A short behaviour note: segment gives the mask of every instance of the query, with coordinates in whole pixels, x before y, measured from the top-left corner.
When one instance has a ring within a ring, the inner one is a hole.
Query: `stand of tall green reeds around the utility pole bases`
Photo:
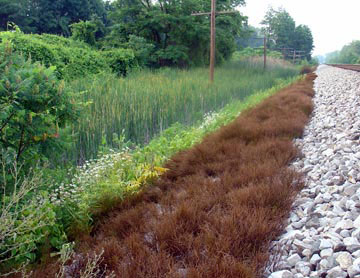
[[[217,68],[214,84],[209,84],[206,68],[143,70],[126,78],[104,74],[74,81],[72,89],[83,92],[83,101],[92,104],[73,125],[78,139],[71,159],[95,158],[103,145],[116,148],[120,136],[147,143],[176,122],[193,124],[205,113],[296,74],[288,64],[270,61],[264,71],[261,59],[249,59]]]

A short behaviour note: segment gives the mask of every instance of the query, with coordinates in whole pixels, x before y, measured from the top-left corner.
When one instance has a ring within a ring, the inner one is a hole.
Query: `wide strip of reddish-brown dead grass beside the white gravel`
[[[156,185],[113,210],[79,252],[104,250],[99,267],[116,277],[261,277],[269,243],[303,186],[288,165],[313,108],[314,79],[307,75],[175,155]],[[54,277],[55,269],[34,277]],[[73,267],[71,277],[78,273]]]

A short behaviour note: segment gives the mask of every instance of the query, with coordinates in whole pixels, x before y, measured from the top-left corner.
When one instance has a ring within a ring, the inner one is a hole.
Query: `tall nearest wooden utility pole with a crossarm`
[[[211,12],[210,13],[203,13],[203,12],[196,12],[192,13],[193,16],[199,15],[210,15],[210,82],[214,82],[214,71],[215,71],[215,37],[216,37],[216,24],[215,24],[215,17],[218,14],[229,14],[229,13],[236,13],[237,11],[216,11],[216,0],[211,0]]]

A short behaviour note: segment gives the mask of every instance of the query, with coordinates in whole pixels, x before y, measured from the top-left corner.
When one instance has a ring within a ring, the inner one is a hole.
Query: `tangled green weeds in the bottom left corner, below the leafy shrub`
[[[55,205],[48,193],[40,190],[43,184],[40,170],[32,170],[23,177],[19,173],[21,166],[16,162],[9,166],[7,156],[1,153],[0,167],[3,174],[12,174],[13,190],[7,192],[8,184],[0,183],[0,274],[34,262],[42,247],[59,250],[67,241]]]

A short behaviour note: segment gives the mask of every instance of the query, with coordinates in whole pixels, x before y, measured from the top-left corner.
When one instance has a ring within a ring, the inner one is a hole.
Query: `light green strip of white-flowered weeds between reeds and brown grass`
[[[72,199],[76,206],[73,210],[74,221],[87,221],[81,225],[86,227],[90,219],[151,184],[153,179],[166,171],[161,166],[173,154],[198,143],[206,134],[234,120],[241,111],[254,106],[296,78],[277,80],[273,88],[252,92],[243,100],[233,101],[219,112],[205,115],[204,120],[192,127],[176,123],[143,148],[129,149],[129,143],[122,137],[119,151],[110,152],[79,167],[72,183],[62,187],[58,200],[66,202]],[[76,225],[79,226],[79,223]]]

